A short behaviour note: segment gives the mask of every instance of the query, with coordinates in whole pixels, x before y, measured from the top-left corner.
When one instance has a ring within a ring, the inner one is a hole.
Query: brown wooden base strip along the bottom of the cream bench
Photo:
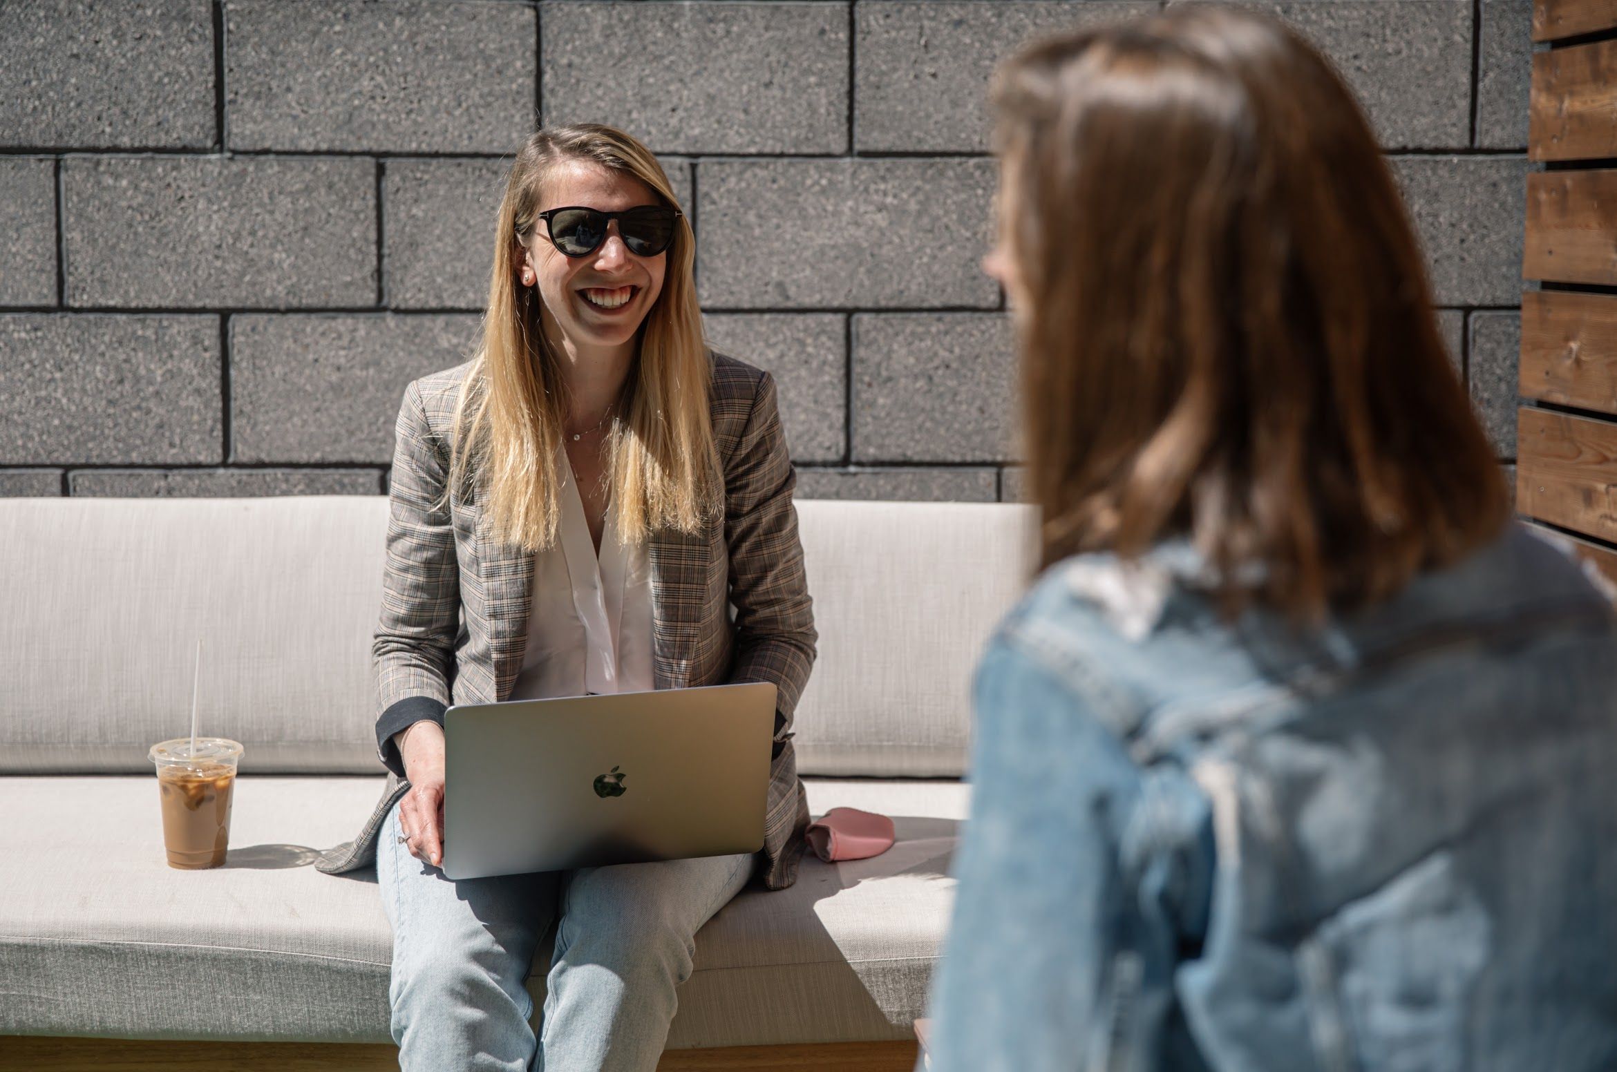
[[[914,1041],[669,1049],[658,1072],[910,1072]],[[0,1035],[0,1072],[398,1072],[391,1045]]]

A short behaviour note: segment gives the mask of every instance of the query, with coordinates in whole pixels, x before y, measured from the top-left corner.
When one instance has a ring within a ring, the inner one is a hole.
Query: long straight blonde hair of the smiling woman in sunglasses
[[[629,175],[679,207],[657,157],[632,136],[597,123],[537,129],[516,154],[495,226],[495,259],[482,343],[461,382],[451,432],[450,488],[480,496],[490,535],[537,551],[555,542],[561,498],[556,443],[569,407],[559,356],[540,323],[537,288],[521,286],[524,246],[542,210],[543,181],[564,160]],[[639,543],[653,529],[694,534],[720,504],[718,456],[708,412],[711,365],[702,336],[692,260],[695,238],[676,220],[663,289],[639,331],[624,404],[608,432],[616,538]],[[475,488],[467,487],[467,467]]]

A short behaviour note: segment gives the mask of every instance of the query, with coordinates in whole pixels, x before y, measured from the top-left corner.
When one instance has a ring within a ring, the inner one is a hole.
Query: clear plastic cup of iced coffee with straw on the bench
[[[197,737],[192,752],[191,737],[176,737],[154,744],[147,758],[157,763],[168,867],[222,865],[241,745],[225,737]]]

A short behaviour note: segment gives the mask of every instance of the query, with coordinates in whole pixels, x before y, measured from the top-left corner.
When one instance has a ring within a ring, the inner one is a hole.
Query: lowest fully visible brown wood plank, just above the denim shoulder
[[[1517,513],[1617,540],[1617,424],[1517,409]]]

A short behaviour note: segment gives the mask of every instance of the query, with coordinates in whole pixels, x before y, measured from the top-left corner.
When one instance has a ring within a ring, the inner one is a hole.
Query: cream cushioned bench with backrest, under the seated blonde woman
[[[897,844],[804,859],[697,936],[669,1049],[899,1040],[967,815],[977,652],[1032,563],[1015,504],[799,501],[820,653],[797,710],[818,817]],[[325,875],[380,794],[370,640],[385,496],[0,500],[0,1035],[388,1043],[375,872]],[[246,745],[222,868],[167,867],[146,750]],[[548,943],[529,978],[535,1020]],[[537,1027],[537,1023],[535,1023]]]

